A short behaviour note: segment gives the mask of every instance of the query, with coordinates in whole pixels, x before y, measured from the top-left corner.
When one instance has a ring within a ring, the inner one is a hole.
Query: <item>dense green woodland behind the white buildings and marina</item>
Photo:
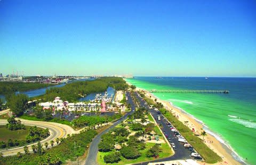
[[[42,98],[44,101],[52,101],[59,96],[62,100],[69,102],[77,102],[78,98],[85,94],[106,91],[108,87],[116,90],[124,90],[128,87],[122,78],[118,77],[102,77],[93,81],[77,81],[67,84],[63,87],[53,87],[46,90],[46,94],[36,98]]]

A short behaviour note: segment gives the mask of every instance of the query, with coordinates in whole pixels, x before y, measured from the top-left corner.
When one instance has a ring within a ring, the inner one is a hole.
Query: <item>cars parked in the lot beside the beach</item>
[[[161,112],[160,112],[161,113]],[[158,113],[159,114],[159,113]],[[163,116],[162,116],[163,117]],[[171,131],[173,131],[173,134],[176,138],[178,138],[178,142],[182,143],[183,144],[183,147],[185,147],[186,149],[188,149],[190,152],[191,152],[191,155],[192,157],[194,157],[195,159],[199,159],[199,160],[202,160],[202,156],[200,154],[198,154],[193,146],[191,146],[188,141],[179,133],[179,131],[174,128],[172,126],[172,124],[165,118],[163,117],[163,120],[166,122],[166,125],[171,129]],[[172,139],[171,137],[167,137],[167,134],[165,133],[165,131],[163,131],[165,137],[168,139],[168,141],[170,142],[170,144],[172,145],[173,147],[173,150],[175,151],[175,144],[172,143]]]

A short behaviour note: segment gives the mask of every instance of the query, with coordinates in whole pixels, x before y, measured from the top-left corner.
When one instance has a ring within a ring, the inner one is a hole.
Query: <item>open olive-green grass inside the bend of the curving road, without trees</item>
[[[9,130],[5,126],[0,126],[0,141],[8,142],[9,139],[17,139],[18,141],[26,141],[31,126],[25,126],[26,129]],[[38,128],[43,129],[43,128]]]

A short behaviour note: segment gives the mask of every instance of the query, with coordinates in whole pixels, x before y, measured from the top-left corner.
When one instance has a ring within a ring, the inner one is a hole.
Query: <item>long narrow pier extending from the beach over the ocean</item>
[[[229,90],[149,90],[150,93],[224,93],[228,94]]]

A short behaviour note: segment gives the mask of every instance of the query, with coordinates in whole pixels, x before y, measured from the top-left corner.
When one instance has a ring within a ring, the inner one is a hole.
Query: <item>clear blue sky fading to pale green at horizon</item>
[[[0,0],[13,71],[256,77],[256,2]]]

